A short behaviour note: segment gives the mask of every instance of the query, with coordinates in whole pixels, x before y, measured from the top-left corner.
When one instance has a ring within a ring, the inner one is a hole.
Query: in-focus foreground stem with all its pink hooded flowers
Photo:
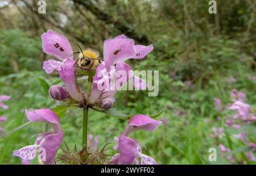
[[[139,90],[146,88],[146,82],[134,75],[133,70],[124,61],[130,58],[141,59],[150,53],[153,49],[152,45],[143,46],[135,45],[133,39],[127,38],[125,35],[114,37],[104,41],[103,58],[104,61],[97,66],[96,72],[88,70],[83,72],[88,76],[88,87],[86,90],[77,83],[76,61],[73,59],[73,49],[66,37],[55,33],[52,30],[42,35],[43,51],[48,55],[56,57],[57,60],[47,60],[43,63],[43,69],[47,74],[56,70],[59,73],[63,85],[52,85],[49,88],[49,95],[58,101],[66,103],[67,107],[80,107],[84,110],[83,116],[83,137],[82,150],[71,152],[66,145],[64,154],[58,157],[57,161],[64,161],[66,164],[109,164],[110,158],[105,153],[105,146],[102,150],[98,150],[99,137],[93,140],[92,135],[87,134],[87,118],[88,110],[97,110],[101,112],[109,111],[114,105],[114,95],[118,89],[109,90],[106,87],[103,90],[98,89],[98,85],[105,81],[109,81],[115,77],[115,72],[121,70],[127,74],[125,81],[121,83],[125,85],[129,79],[133,78],[133,85]],[[93,50],[90,50],[93,54]],[[89,56],[86,56],[89,57]],[[101,76],[99,73],[102,73]],[[116,78],[118,82],[121,78]],[[82,85],[85,85],[82,83]],[[92,85],[92,89],[90,87]],[[3,106],[0,102],[0,105]],[[50,109],[26,110],[28,121],[32,123],[46,123],[52,128],[52,131],[46,131],[37,135],[34,144],[24,146],[21,149],[14,150],[13,155],[22,159],[22,164],[30,164],[30,160],[39,155],[39,162],[42,164],[56,164],[55,155],[60,145],[63,143],[64,132],[57,112]],[[129,137],[131,132],[138,129],[146,131],[154,131],[160,121],[151,119],[146,115],[135,115],[129,118],[129,123],[125,131],[119,136],[118,145],[115,149],[119,150],[118,154],[110,161],[110,164],[136,164],[141,160],[141,164],[157,164],[150,156],[142,153],[141,144]]]

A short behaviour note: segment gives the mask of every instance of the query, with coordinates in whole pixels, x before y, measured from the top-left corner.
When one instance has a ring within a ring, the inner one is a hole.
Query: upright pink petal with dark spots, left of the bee
[[[68,57],[73,58],[73,50],[66,37],[49,30],[46,33],[43,33],[41,38],[43,42],[43,51],[48,55],[55,56],[61,61]]]

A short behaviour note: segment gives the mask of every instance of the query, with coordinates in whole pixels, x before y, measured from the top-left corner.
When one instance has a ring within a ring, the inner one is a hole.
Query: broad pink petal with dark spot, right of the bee
[[[125,35],[104,41],[104,61],[107,70],[110,69],[111,65],[134,56],[134,40],[126,38]]]

